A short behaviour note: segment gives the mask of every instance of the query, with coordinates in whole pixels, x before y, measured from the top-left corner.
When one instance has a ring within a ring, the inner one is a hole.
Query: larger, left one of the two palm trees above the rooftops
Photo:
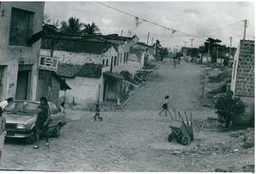
[[[62,22],[61,32],[65,34],[81,34],[83,24],[76,17],[68,19],[67,23]]]

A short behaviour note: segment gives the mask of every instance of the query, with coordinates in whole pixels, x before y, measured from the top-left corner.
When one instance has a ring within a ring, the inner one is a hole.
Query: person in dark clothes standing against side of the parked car
[[[36,141],[35,141],[34,148],[39,148],[39,140],[40,140],[41,133],[46,135],[46,146],[49,146],[48,126],[49,126],[48,102],[47,102],[47,98],[45,96],[42,96],[40,98],[40,105],[38,107],[37,119],[35,123]]]

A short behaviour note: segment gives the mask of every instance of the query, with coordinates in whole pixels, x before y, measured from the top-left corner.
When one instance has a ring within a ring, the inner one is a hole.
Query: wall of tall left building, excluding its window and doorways
[[[5,66],[5,83],[2,84],[2,96],[16,96],[18,67],[21,65],[30,65],[30,79],[28,99],[34,100],[36,97],[38,58],[40,41],[33,43],[32,46],[9,45],[9,32],[11,21],[11,9],[24,9],[34,13],[32,24],[32,33],[42,30],[45,3],[43,2],[1,2],[0,11],[0,66]]]

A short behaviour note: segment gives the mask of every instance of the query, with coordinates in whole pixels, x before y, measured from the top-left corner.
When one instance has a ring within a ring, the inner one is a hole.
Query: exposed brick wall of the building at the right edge
[[[254,41],[240,42],[235,96],[254,97]]]

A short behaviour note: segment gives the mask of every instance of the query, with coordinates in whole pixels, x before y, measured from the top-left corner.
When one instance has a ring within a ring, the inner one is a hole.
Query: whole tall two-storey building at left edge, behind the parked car
[[[0,100],[36,99],[40,42],[29,43],[42,30],[44,2],[0,3]]]

